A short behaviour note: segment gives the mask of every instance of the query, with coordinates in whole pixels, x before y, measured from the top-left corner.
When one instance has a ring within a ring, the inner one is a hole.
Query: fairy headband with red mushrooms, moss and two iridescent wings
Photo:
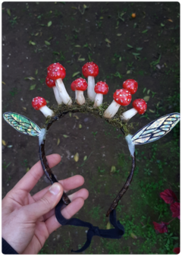
[[[124,106],[130,104],[132,94],[137,92],[137,81],[134,81],[133,79],[124,81],[123,88],[115,91],[113,101],[109,105],[108,103],[103,103],[103,95],[108,93],[108,85],[102,81],[95,84],[95,77],[99,74],[98,66],[93,62],[88,62],[83,65],[82,71],[83,75],[88,77],[88,84],[83,78],[78,78],[73,81],[71,84],[71,90],[75,91],[75,100],[73,102],[71,97],[67,94],[67,90],[62,81],[66,74],[65,68],[59,63],[49,66],[48,76],[45,81],[49,87],[53,88],[58,106],[53,106],[49,109],[49,107],[46,106],[46,101],[39,96],[34,98],[32,102],[33,108],[40,110],[43,115],[45,115],[46,121],[43,128],[39,128],[38,125],[30,119],[27,119],[27,117],[24,117],[24,115],[19,115],[14,112],[5,112],[3,116],[5,121],[17,131],[33,137],[39,137],[39,158],[41,160],[42,169],[52,184],[58,182],[58,180],[55,178],[55,175],[53,175],[45,157],[45,137],[53,123],[63,118],[64,115],[69,112],[82,112],[90,113],[96,117],[105,119],[109,124],[120,128],[126,138],[130,150],[132,168],[124,187],[121,188],[121,191],[119,191],[117,197],[111,203],[111,206],[106,213],[106,216],[109,216],[109,214],[117,207],[118,202],[127,191],[133,178],[133,172],[136,166],[134,153],[135,145],[156,141],[165,136],[165,134],[168,134],[168,132],[177,125],[177,122],[181,120],[181,114],[171,113],[162,116],[141,128],[136,134],[131,135],[130,130],[133,126],[128,121],[137,113],[143,115],[144,112],[146,112],[147,107],[146,102],[143,99],[137,99],[133,101],[132,109],[127,111],[124,109]],[[85,99],[83,91],[86,89],[87,98]],[[63,201],[64,204],[71,203],[65,193],[63,194],[61,201]]]

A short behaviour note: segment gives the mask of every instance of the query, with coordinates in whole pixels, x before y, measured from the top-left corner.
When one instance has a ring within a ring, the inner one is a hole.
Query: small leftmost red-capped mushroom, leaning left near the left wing
[[[47,105],[46,100],[39,96],[34,98],[32,101],[33,108],[36,110],[40,110],[42,114],[45,115],[45,117],[53,116],[54,112],[52,111],[52,109],[49,109],[49,107],[46,105]]]

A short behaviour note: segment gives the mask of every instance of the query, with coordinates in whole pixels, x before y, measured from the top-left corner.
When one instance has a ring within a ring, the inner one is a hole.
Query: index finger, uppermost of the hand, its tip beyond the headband
[[[50,168],[52,168],[61,161],[61,156],[58,154],[52,154],[47,156],[47,160]],[[17,185],[15,185],[13,189],[22,189],[30,193],[43,174],[42,165],[39,161],[30,169],[29,172],[26,173],[26,175],[24,175],[22,179],[20,179],[20,182],[17,182]]]

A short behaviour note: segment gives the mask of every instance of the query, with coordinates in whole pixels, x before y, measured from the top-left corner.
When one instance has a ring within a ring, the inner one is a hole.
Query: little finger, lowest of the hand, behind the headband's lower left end
[[[75,213],[77,213],[81,209],[81,207],[83,207],[83,204],[83,198],[77,198],[73,202],[71,202],[71,204],[68,204],[67,207],[61,210],[61,213],[64,218],[70,219],[72,216],[74,216]],[[55,229],[58,229],[61,226],[61,224],[58,223],[55,214],[45,221],[45,225],[47,226],[49,234],[51,234],[53,231],[55,231]]]

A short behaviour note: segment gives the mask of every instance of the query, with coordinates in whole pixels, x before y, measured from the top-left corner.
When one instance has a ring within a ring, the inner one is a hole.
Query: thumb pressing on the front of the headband
[[[45,213],[49,213],[58,204],[62,194],[63,187],[60,183],[55,182],[39,201],[27,205],[27,216],[30,216],[31,220],[37,220]]]

